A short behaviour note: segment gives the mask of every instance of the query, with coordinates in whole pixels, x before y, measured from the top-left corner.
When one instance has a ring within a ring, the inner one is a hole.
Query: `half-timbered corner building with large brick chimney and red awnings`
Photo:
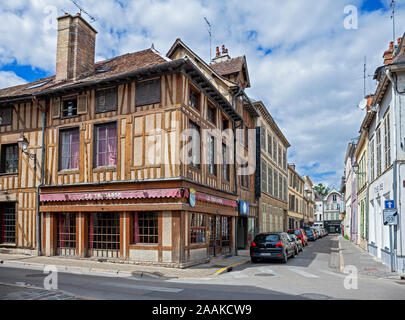
[[[254,171],[232,162],[255,127],[244,87],[174,56],[179,40],[168,57],[94,63],[96,33],[58,18],[56,75],[0,90],[0,246],[172,267],[246,247]]]

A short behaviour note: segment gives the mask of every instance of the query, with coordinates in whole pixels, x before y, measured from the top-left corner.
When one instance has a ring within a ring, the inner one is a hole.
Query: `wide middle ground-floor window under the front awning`
[[[120,249],[120,214],[91,213],[89,222],[89,249],[99,256],[97,250]],[[108,255],[107,255],[108,256]]]

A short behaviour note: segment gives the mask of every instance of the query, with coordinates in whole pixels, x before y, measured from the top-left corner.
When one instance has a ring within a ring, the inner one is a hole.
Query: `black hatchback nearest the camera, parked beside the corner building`
[[[277,259],[287,263],[289,257],[295,257],[295,244],[285,232],[260,233],[250,246],[252,263],[259,259]]]

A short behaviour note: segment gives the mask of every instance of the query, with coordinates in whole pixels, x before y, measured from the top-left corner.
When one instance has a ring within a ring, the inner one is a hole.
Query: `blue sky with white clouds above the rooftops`
[[[207,17],[213,52],[225,44],[231,57],[246,55],[248,94],[264,101],[285,133],[289,162],[315,183],[340,187],[347,143],[359,135],[364,117],[356,107],[364,57],[366,92],[372,93],[372,74],[393,38],[391,0],[77,2],[96,18],[98,61],[152,43],[166,54],[176,38],[209,60]],[[405,32],[405,0],[396,2],[398,38]],[[56,17],[77,11],[70,0],[2,0],[0,88],[54,74]]]

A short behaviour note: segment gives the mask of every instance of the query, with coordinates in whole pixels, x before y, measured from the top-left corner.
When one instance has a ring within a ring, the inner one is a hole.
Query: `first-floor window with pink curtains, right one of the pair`
[[[117,124],[109,123],[96,127],[96,166],[117,165]]]

